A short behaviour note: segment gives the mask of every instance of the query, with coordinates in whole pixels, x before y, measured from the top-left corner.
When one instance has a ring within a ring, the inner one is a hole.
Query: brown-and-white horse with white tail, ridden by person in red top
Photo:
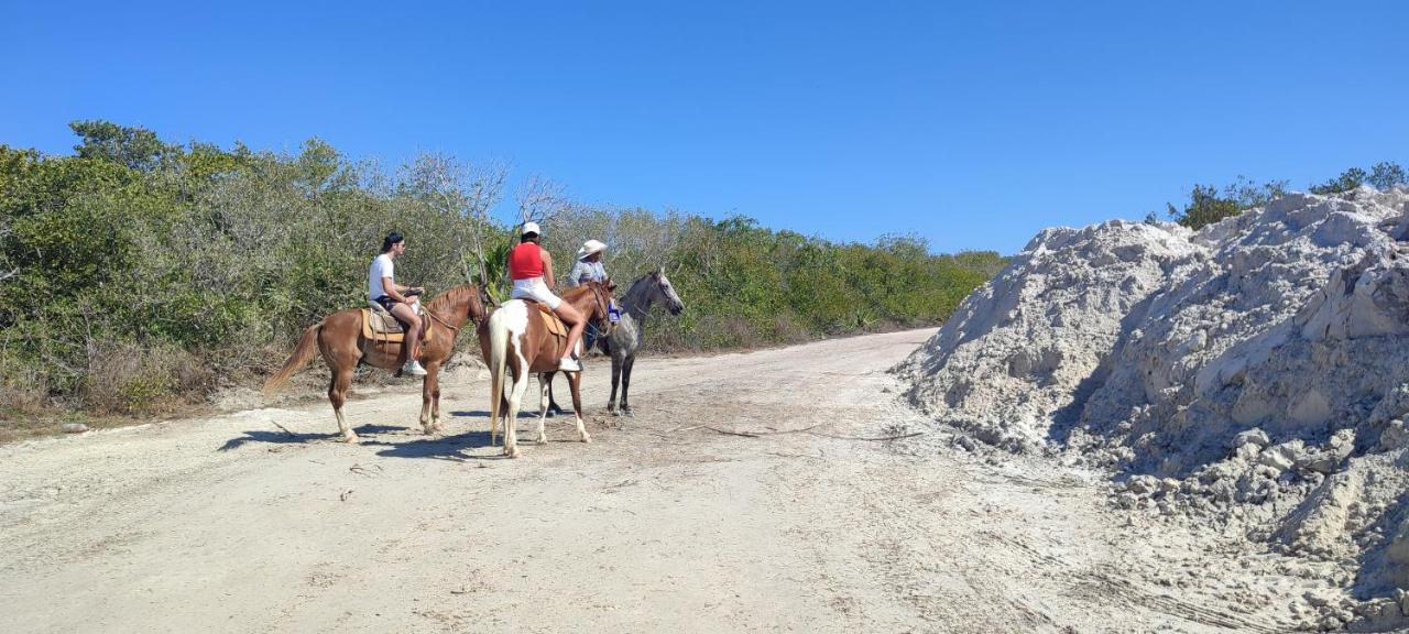
[[[586,320],[606,321],[607,306],[612,303],[616,285],[610,280],[588,282],[562,293],[562,300],[571,303]],[[493,373],[489,392],[489,442],[495,442],[495,433],[499,428],[499,416],[504,418],[504,455],[519,458],[519,437],[514,433],[514,418],[519,416],[519,406],[523,402],[524,390],[528,389],[528,375],[540,373],[541,404],[547,404],[547,372],[558,371],[558,359],[562,358],[566,345],[565,337],[554,335],[538,317],[538,309],[528,306],[524,300],[509,300],[489,314],[489,320],[476,328],[479,347]],[[581,352],[581,344],[579,352]],[[504,373],[513,375],[513,389],[509,400],[504,400]],[[582,424],[582,372],[565,372],[568,385],[572,387],[572,410],[578,420],[578,438],[582,442],[592,442],[588,428]],[[548,442],[544,433],[544,414],[547,407],[538,413],[538,442]]]

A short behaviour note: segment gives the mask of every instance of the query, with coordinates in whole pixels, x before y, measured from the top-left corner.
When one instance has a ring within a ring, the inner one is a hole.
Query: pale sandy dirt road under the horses
[[[0,447],[0,631],[1284,627],[1100,473],[952,448],[885,373],[929,334],[641,359],[633,418],[589,359],[595,442],[520,418],[517,461],[482,379],[445,438],[397,393],[348,404],[362,445],[317,403]]]

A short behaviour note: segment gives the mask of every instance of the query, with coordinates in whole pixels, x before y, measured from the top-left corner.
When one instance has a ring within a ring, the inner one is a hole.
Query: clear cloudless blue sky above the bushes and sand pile
[[[595,204],[1016,252],[1193,183],[1409,163],[1409,3],[25,3],[0,144],[106,118]],[[293,6],[297,4],[297,6]],[[395,4],[395,6],[393,6]]]

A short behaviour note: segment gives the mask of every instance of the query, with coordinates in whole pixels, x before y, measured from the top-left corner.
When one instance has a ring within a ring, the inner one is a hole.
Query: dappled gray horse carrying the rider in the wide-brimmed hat
[[[597,338],[597,348],[603,354],[612,355],[612,399],[607,402],[607,411],[612,416],[631,416],[631,406],[627,403],[627,390],[631,387],[631,366],[635,365],[635,352],[645,341],[645,317],[651,313],[651,306],[657,302],[665,304],[671,314],[681,314],[685,303],[675,294],[665,269],[645,273],[631,282],[626,294],[617,299],[617,304],[624,310],[616,328],[610,328],[606,337]],[[552,383],[552,373],[540,376],[540,380]],[[621,409],[617,410],[617,385],[621,386]],[[552,390],[548,392],[548,413],[562,411],[552,400]]]

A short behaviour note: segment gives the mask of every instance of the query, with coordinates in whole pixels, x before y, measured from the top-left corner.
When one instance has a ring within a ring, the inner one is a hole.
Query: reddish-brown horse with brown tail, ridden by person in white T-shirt
[[[426,320],[428,332],[421,344],[418,361],[426,366],[426,382],[421,385],[421,428],[427,434],[445,431],[440,423],[440,369],[455,351],[455,335],[459,334],[459,327],[465,324],[465,320],[472,320],[476,324],[485,321],[485,303],[479,293],[479,287],[475,285],[461,285],[426,304],[426,313],[430,317]],[[313,358],[314,344],[323,352],[323,361],[328,363],[328,369],[333,371],[333,379],[328,382],[328,402],[333,403],[333,413],[338,417],[338,430],[342,433],[342,440],[356,442],[356,434],[342,418],[342,403],[347,403],[352,372],[358,363],[395,371],[399,366],[397,358],[402,354],[402,344],[362,337],[361,309],[340,310],[303,331],[303,338],[299,340],[293,355],[283,362],[283,368],[276,375],[265,382],[265,394],[272,394]]]

